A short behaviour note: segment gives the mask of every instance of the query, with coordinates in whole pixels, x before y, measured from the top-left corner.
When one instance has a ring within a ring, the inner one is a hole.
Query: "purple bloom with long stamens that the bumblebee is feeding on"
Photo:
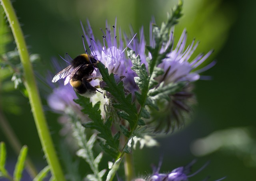
[[[109,73],[114,73],[117,82],[120,80],[124,82],[126,91],[132,93],[138,91],[138,86],[134,81],[136,73],[132,71],[132,62],[128,59],[125,51],[126,46],[129,45],[133,38],[130,38],[130,42],[123,42],[121,29],[119,28],[118,35],[116,33],[116,22],[115,26],[110,27],[106,21],[106,31],[102,30],[102,33],[103,43],[94,38],[90,23],[89,21],[87,22],[84,37],[90,48],[91,55],[101,61],[108,68]],[[97,75],[99,75],[99,72],[97,72]]]

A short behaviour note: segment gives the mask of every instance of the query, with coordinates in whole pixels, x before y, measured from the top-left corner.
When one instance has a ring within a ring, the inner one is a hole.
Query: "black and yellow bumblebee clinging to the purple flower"
[[[93,80],[92,72],[94,67],[97,67],[96,63],[97,60],[91,55],[85,53],[78,55],[68,67],[53,77],[52,82],[56,83],[58,80],[66,77],[64,85],[67,85],[69,82],[78,94],[90,97],[98,91],[90,85],[90,81]]]

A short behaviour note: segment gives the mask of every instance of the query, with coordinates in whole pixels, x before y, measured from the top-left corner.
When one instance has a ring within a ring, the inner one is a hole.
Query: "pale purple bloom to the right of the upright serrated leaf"
[[[173,45],[173,33],[173,31],[170,32],[170,39],[166,45],[162,46],[161,52],[165,51],[171,43]],[[186,47],[186,39],[187,33],[186,30],[184,30],[176,48],[168,53],[167,58],[158,66],[164,69],[165,72],[163,76],[159,77],[159,79],[164,81],[166,84],[177,81],[197,81],[200,79],[200,75],[198,74],[200,71],[193,70],[201,65],[212,54],[211,50],[206,53],[206,55],[200,54],[195,59],[190,60],[191,55],[198,46],[198,42],[194,44],[195,41],[193,40],[192,43]],[[210,63],[208,67],[205,68],[210,68],[213,65],[215,65],[215,62]]]

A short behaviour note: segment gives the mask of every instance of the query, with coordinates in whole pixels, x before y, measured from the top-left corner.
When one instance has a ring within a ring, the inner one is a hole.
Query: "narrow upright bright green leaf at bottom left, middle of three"
[[[22,171],[24,169],[27,152],[28,152],[28,147],[26,145],[22,146],[20,150],[20,154],[18,156],[17,163],[15,165],[14,173],[13,173],[13,177],[15,181],[20,181],[22,177]]]

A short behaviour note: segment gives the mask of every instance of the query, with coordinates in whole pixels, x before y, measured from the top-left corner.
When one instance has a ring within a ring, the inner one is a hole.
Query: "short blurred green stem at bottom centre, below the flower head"
[[[132,154],[124,153],[124,173],[126,181],[131,181],[135,177],[134,162]]]

